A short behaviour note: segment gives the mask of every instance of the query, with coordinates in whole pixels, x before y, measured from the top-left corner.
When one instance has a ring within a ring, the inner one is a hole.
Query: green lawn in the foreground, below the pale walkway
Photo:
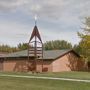
[[[90,90],[90,83],[0,76],[0,90]]]

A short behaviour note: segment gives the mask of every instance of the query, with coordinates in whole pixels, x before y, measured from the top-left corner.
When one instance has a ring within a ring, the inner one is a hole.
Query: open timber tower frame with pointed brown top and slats
[[[32,69],[31,71],[38,72],[37,71],[37,61],[40,58],[42,60],[42,72],[43,72],[43,43],[40,36],[40,33],[38,31],[36,21],[35,26],[32,31],[29,43],[28,43],[28,60],[30,60],[30,57],[33,56],[34,60],[32,61]]]

